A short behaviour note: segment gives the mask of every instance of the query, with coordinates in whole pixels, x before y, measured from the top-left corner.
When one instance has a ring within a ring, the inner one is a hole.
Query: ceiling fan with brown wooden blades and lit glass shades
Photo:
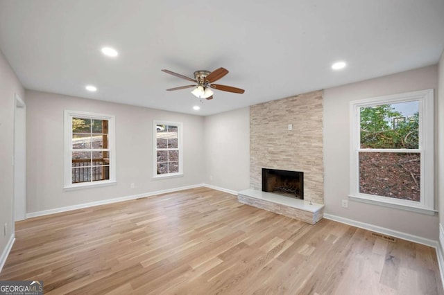
[[[224,75],[228,74],[228,70],[224,69],[224,68],[219,68],[219,69],[216,69],[212,72],[206,71],[206,70],[195,71],[194,72],[194,79],[188,78],[185,75],[180,75],[179,73],[174,73],[169,70],[163,69],[162,71],[165,73],[169,73],[170,75],[175,75],[176,77],[197,83],[197,84],[193,84],[193,85],[170,88],[170,89],[167,89],[167,91],[195,87],[195,89],[193,91],[191,91],[191,93],[193,93],[194,96],[196,96],[197,98],[205,98],[208,100],[213,99],[212,89],[217,89],[217,90],[221,90],[221,91],[228,91],[228,92],[233,92],[233,93],[244,93],[245,92],[244,89],[240,89],[240,88],[236,88],[236,87],[232,87],[232,86],[221,85],[221,84],[212,84],[213,82],[222,78]]]

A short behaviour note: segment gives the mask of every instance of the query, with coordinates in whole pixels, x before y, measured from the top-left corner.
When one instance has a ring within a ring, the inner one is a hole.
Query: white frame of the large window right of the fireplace
[[[398,152],[398,149],[363,149],[360,144],[361,107],[398,102],[419,102],[418,149],[400,149],[420,154],[420,202],[393,197],[359,193],[359,152]],[[350,195],[357,202],[434,215],[434,89],[425,89],[390,96],[365,98],[350,102]]]

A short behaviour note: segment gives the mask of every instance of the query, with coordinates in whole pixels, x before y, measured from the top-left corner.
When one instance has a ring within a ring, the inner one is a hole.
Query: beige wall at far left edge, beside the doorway
[[[0,52],[0,258],[12,233],[15,94],[25,100],[24,89]],[[7,235],[3,226],[7,226]]]

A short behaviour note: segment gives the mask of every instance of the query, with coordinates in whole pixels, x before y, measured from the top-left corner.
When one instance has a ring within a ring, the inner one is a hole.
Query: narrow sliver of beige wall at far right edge
[[[444,226],[444,51],[438,64],[438,91],[438,202],[439,223]]]

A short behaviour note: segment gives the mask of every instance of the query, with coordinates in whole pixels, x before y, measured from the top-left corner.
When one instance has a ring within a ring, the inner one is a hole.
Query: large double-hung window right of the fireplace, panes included
[[[350,199],[433,214],[433,89],[352,101],[350,127]]]

